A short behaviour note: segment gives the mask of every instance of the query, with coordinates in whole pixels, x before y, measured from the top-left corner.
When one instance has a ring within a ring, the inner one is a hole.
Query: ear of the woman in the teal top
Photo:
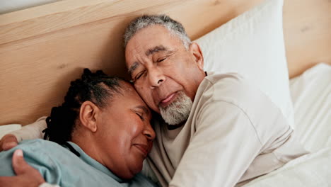
[[[85,101],[81,104],[81,110],[79,111],[79,119],[81,120],[81,125],[91,132],[96,132],[98,130],[97,125],[97,115],[100,112],[98,106],[96,106],[91,101]]]

